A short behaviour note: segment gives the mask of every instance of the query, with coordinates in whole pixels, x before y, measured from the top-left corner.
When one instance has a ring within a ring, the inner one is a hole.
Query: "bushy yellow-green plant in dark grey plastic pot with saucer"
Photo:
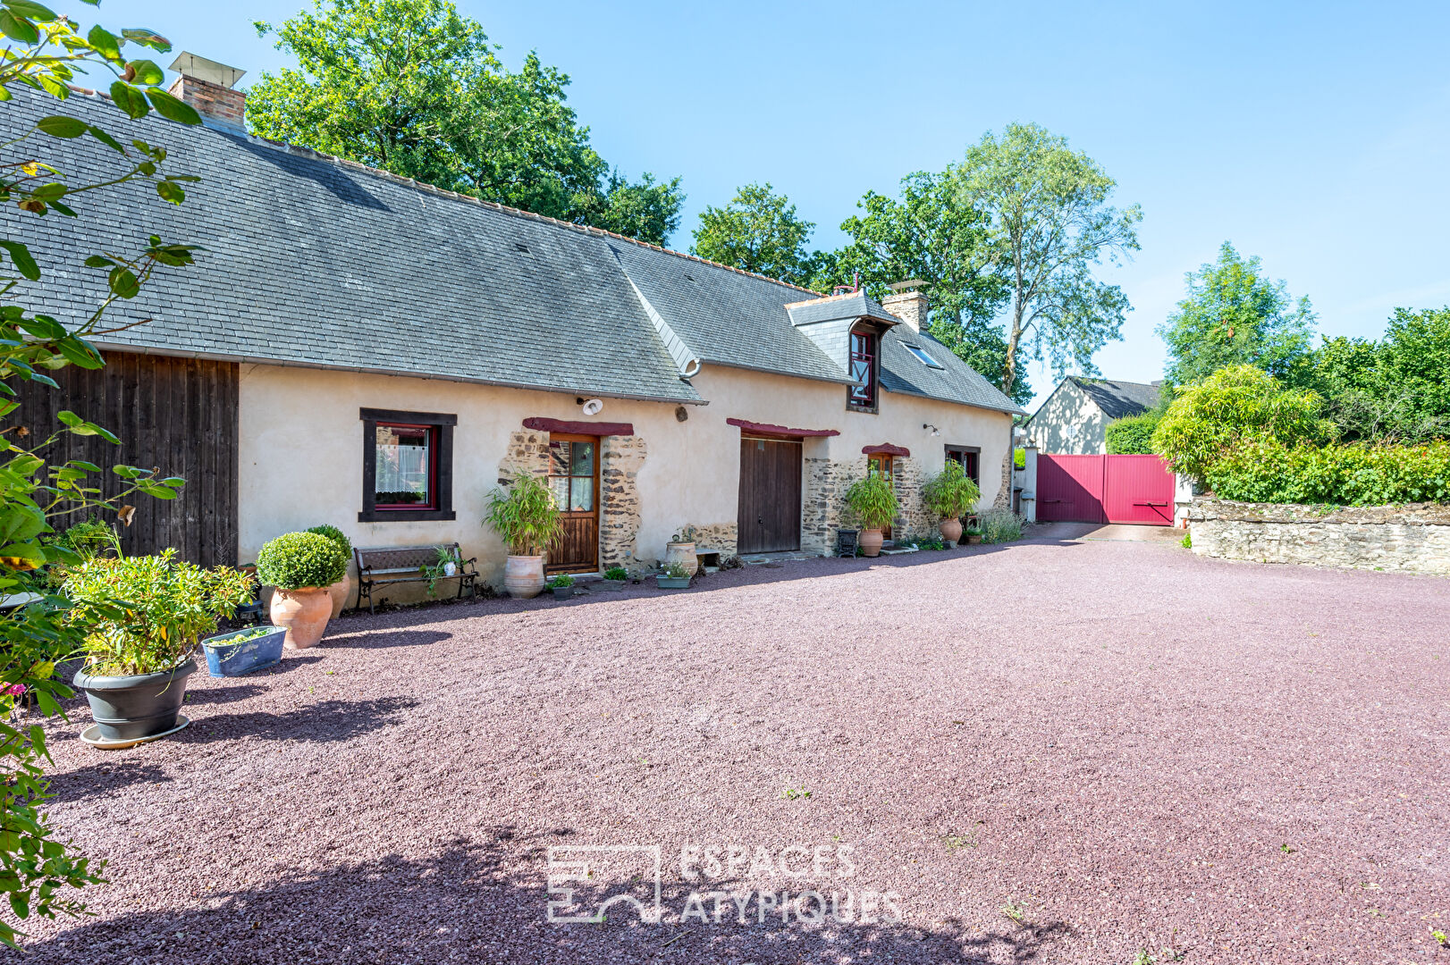
[[[94,556],[67,574],[65,619],[86,629],[86,662],[72,682],[86,691],[102,742],[174,730],[197,639],[252,597],[246,574],[174,555]]]

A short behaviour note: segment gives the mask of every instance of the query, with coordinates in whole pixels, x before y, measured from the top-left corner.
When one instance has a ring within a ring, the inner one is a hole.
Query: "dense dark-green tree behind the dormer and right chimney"
[[[931,309],[928,332],[967,365],[982,372],[1015,401],[1032,390],[1025,378],[1002,381],[1006,335],[995,325],[1006,301],[1006,285],[995,267],[990,222],[961,203],[956,168],[902,178],[900,196],[867,191],[857,203],[861,214],[841,223],[851,242],[841,251],[815,256],[811,287],[825,291],[858,280],[876,298],[896,281],[925,283]]]

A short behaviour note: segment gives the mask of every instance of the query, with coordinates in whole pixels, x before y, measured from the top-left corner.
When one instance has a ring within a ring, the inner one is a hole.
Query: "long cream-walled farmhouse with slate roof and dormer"
[[[497,582],[484,497],[519,469],[567,510],[551,572],[638,571],[686,526],[721,552],[828,553],[870,468],[896,482],[898,533],[935,529],[919,488],[947,459],[1006,503],[1022,413],[924,330],[914,285],[821,296],[248,136],[239,72],[183,59],[173,93],[202,128],[128,122],[97,94],[67,110],[164,145],[170,172],[202,178],[186,203],[132,183],[26,225],[51,287],[22,297],[71,325],[104,294],[86,255],[204,248],[115,306],[106,368],[61,369],[61,393],[30,385],[16,413],[45,432],[74,409],[123,445],[72,439],[68,458],[188,480],[138,504],[128,552],[245,564],[332,523],[360,546],[457,540]],[[16,99],[7,123],[54,112]],[[120,170],[91,138],[52,146]]]

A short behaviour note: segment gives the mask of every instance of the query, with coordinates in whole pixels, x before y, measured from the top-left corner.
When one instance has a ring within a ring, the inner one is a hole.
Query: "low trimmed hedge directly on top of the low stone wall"
[[[1219,498],[1244,503],[1450,503],[1450,442],[1286,446],[1250,439],[1209,465],[1205,482]]]

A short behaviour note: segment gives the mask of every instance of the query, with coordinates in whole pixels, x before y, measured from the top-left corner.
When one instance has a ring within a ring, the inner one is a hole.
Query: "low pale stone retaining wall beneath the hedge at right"
[[[1193,552],[1224,559],[1450,577],[1450,506],[1285,506],[1196,498]]]

